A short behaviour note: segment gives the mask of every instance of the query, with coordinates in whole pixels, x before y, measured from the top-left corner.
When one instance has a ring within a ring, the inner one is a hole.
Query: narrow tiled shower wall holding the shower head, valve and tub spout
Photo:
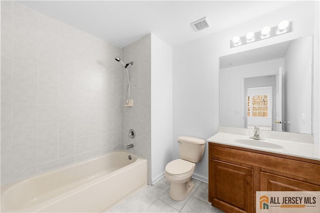
[[[133,143],[129,151],[148,159],[148,183],[151,184],[151,34],[122,48],[123,62],[133,61],[128,66],[133,106],[122,106],[122,143]],[[122,105],[125,100],[127,85],[126,71],[122,69]],[[128,136],[129,129],[135,130],[136,136]]]

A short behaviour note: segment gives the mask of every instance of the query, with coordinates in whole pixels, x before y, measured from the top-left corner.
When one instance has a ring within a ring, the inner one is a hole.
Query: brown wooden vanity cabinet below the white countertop
[[[209,142],[209,202],[255,212],[256,191],[320,190],[320,161]]]

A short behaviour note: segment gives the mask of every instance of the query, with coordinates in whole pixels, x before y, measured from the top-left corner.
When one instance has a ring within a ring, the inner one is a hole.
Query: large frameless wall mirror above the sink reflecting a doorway
[[[220,125],[311,134],[312,39],[221,56]]]

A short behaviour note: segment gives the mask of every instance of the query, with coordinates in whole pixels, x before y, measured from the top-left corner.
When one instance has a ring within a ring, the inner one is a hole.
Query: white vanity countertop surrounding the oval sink
[[[271,142],[271,143],[283,146],[283,148],[268,148],[268,147],[258,147],[258,146],[238,143],[234,141],[235,139],[249,139],[249,137],[247,135],[241,135],[241,134],[218,132],[215,135],[209,137],[207,141],[225,144],[225,145],[232,145],[232,146],[237,146],[242,148],[250,148],[254,150],[267,151],[272,153],[320,160],[320,149],[319,147],[314,146],[313,143],[264,138],[265,140],[261,140],[261,141]]]

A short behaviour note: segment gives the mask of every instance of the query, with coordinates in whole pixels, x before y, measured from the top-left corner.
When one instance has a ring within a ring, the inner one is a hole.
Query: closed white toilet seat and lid
[[[166,164],[165,172],[171,176],[181,176],[189,173],[195,163],[183,159],[175,159]]]

